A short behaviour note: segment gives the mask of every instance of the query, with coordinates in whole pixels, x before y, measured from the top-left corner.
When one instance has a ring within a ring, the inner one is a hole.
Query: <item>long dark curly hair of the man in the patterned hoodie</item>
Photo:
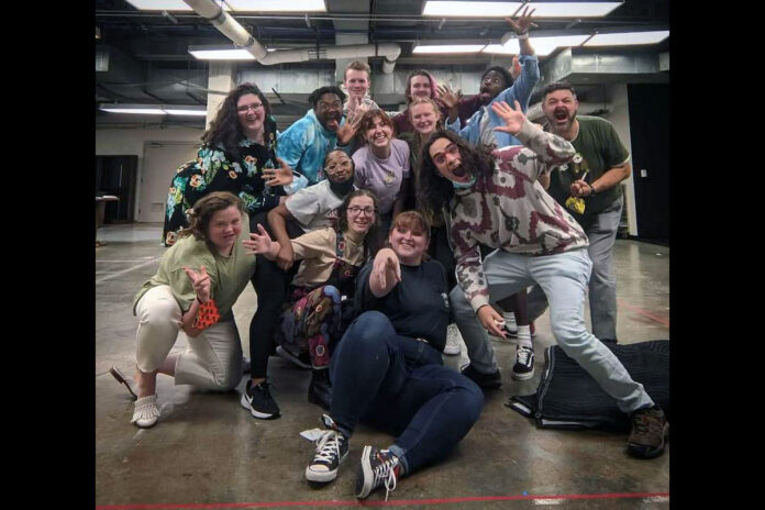
[[[422,147],[422,166],[418,188],[418,203],[426,208],[430,213],[441,210],[454,196],[452,181],[442,177],[430,155],[430,147],[439,138],[447,138],[459,148],[462,166],[472,175],[489,175],[494,171],[494,156],[491,149],[481,146],[479,149],[470,147],[459,135],[441,130],[433,133],[428,143]]]

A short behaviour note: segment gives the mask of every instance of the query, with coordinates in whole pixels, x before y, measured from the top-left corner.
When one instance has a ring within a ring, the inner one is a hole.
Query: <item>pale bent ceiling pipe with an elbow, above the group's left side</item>
[[[382,73],[389,75],[396,67],[396,59],[401,55],[401,46],[396,43],[347,44],[303,49],[276,49],[268,52],[236,20],[212,0],[184,0],[197,14],[207,19],[236,46],[241,46],[263,65],[285,64],[337,58],[385,57]]]

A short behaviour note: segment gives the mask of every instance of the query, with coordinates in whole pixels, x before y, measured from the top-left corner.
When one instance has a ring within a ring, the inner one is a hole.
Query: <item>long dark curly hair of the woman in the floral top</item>
[[[263,138],[268,143],[271,134],[276,137],[276,122],[271,118],[271,109],[266,96],[257,88],[255,84],[244,82],[231,90],[225,97],[215,120],[210,122],[210,127],[202,134],[202,142],[208,146],[222,146],[223,151],[232,160],[240,159],[239,143],[244,138],[242,124],[240,124],[239,114],[236,112],[236,103],[240,98],[246,93],[257,96],[265,109],[265,118],[263,122]]]

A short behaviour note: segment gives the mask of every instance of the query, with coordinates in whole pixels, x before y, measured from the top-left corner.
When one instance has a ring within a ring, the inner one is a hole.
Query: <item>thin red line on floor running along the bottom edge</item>
[[[399,499],[389,501],[271,501],[248,503],[189,503],[189,505],[98,505],[96,510],[159,510],[159,509],[212,509],[212,508],[284,508],[284,507],[400,507],[403,505],[444,505],[461,502],[519,501],[533,499],[636,499],[668,497],[669,492],[607,492],[590,495],[526,495],[476,496],[465,498]]]

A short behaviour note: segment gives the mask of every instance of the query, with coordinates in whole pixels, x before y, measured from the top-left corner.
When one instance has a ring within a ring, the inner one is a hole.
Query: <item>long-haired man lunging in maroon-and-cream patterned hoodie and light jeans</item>
[[[489,155],[440,131],[425,144],[420,170],[422,202],[431,209],[450,204],[461,287],[452,290],[450,302],[470,358],[462,372],[479,386],[500,379],[487,331],[501,334],[501,315],[489,303],[537,284],[550,300],[550,323],[561,348],[630,414],[628,451],[656,457],[669,431],[664,412],[585,328],[581,310],[592,266],[587,236],[537,182],[551,167],[570,162],[574,146],[529,122],[518,101],[514,109],[506,102],[491,109],[505,121],[496,129],[524,146]],[[483,260],[481,243],[497,248]],[[519,346],[517,356],[525,348]]]

